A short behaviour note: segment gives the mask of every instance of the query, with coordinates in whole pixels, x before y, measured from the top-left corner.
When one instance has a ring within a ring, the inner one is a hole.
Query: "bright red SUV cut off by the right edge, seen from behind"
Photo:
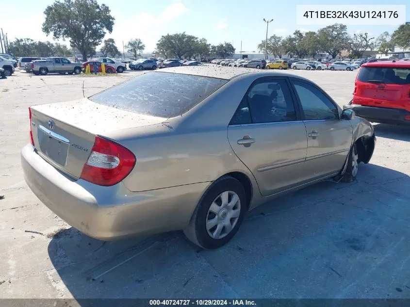
[[[344,107],[371,122],[410,124],[410,63],[383,61],[361,65],[353,99]]]

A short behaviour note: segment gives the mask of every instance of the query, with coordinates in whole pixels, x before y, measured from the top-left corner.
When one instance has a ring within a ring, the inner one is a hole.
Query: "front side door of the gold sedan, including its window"
[[[303,176],[309,179],[339,172],[352,145],[349,120],[340,119],[340,109],[326,93],[310,82],[291,78],[308,135]]]

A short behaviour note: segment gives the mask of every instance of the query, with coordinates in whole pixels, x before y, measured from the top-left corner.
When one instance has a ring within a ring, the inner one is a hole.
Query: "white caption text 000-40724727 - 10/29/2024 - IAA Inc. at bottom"
[[[150,306],[256,306],[253,300],[212,300],[212,299],[200,299],[200,300],[149,300]]]

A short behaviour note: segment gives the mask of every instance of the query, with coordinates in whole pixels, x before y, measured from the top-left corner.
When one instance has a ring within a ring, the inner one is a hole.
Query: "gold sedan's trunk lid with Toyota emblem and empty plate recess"
[[[96,135],[164,122],[165,118],[116,109],[87,98],[31,107],[38,154],[68,176],[80,178]]]

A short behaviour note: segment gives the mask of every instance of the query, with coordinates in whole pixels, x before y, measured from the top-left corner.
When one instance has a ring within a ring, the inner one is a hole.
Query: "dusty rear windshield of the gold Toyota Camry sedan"
[[[217,78],[151,72],[90,99],[126,111],[169,118],[192,109],[226,82]]]

